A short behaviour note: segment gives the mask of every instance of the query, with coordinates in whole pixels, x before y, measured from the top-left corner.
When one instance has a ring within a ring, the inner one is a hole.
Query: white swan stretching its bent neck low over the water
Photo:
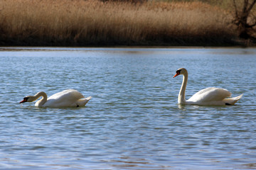
[[[68,107],[82,107],[85,106],[85,104],[90,101],[92,98],[87,97],[85,98],[80,92],[68,89],[65,91],[60,91],[57,94],[53,94],[53,96],[50,96],[47,98],[47,95],[45,92],[41,91],[38,92],[35,96],[26,96],[23,98],[23,101],[20,103],[25,102],[33,102],[36,101],[39,97],[41,100],[37,101],[35,106],[36,107],[50,107],[50,108],[68,108]]]

